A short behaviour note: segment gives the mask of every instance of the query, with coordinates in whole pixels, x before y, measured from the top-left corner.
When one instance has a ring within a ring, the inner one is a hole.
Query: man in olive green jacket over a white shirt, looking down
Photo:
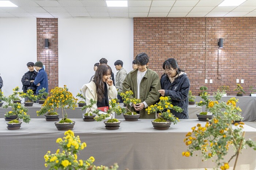
[[[133,96],[131,98],[139,98],[142,103],[132,104],[132,106],[127,105],[127,107],[131,111],[139,112],[140,119],[155,119],[155,115],[152,113],[148,115],[145,109],[155,104],[159,99],[158,90],[161,89],[159,76],[156,72],[147,68],[149,58],[146,53],[138,54],[135,60],[138,68],[127,74],[123,82],[123,93],[132,90]]]

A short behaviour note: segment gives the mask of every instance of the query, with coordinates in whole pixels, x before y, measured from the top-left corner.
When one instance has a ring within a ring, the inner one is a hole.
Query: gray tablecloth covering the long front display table
[[[73,131],[80,136],[87,147],[80,151],[78,159],[94,156],[95,165],[112,165],[117,162],[120,170],[173,170],[214,167],[209,160],[202,162],[200,157],[182,157],[187,146],[183,139],[191,127],[205,122],[193,119],[181,120],[171,125],[169,130],[153,128],[150,119],[135,122],[121,120],[118,130],[106,130],[103,122],[76,121]],[[32,119],[29,124],[22,123],[20,130],[7,130],[6,122],[0,119],[0,169],[1,170],[45,170],[44,155],[58,148],[57,138],[64,131],[57,131],[53,122]],[[256,129],[244,126],[245,137],[256,140]],[[232,149],[230,148],[229,156]],[[234,160],[230,166],[234,165]],[[238,158],[238,169],[254,170],[256,154],[251,148],[243,150]]]

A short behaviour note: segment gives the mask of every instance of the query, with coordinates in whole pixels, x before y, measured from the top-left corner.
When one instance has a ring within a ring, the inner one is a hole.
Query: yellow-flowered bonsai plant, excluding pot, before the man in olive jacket
[[[138,103],[141,102],[140,99],[133,98],[132,94],[133,94],[132,90],[129,90],[125,93],[120,93],[120,96],[123,98],[123,103],[126,104],[126,109],[129,111],[129,112],[125,113],[125,115],[137,115],[136,112],[130,111],[127,107],[127,105],[130,104],[130,103],[138,104]]]

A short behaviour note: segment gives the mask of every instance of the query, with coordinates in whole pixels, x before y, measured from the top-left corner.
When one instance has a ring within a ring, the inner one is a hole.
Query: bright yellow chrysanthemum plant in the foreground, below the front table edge
[[[78,160],[78,153],[83,150],[87,145],[85,142],[81,142],[79,136],[75,136],[71,130],[65,131],[63,138],[58,138],[56,143],[59,144],[60,149],[57,149],[56,153],[51,154],[48,151],[44,155],[45,167],[49,170],[117,170],[118,165],[114,163],[112,167],[107,166],[95,166],[93,162],[94,157],[90,157],[87,160]]]

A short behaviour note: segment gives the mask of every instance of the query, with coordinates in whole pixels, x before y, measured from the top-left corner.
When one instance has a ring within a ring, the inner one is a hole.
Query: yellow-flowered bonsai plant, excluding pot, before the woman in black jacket
[[[151,105],[149,106],[146,111],[148,114],[150,113],[155,113],[158,112],[159,113],[159,118],[155,119],[154,122],[166,122],[166,121],[170,121],[173,124],[177,124],[178,121],[180,121],[178,119],[178,117],[175,117],[171,111],[174,110],[176,112],[182,112],[183,109],[178,107],[178,106],[173,106],[172,103],[170,102],[171,98],[169,96],[163,97],[161,96],[160,101],[155,104],[155,105]]]

